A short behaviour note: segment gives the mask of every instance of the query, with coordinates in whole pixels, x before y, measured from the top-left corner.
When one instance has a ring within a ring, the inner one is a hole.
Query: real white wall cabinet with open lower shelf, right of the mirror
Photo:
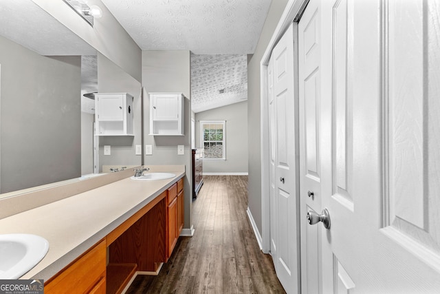
[[[150,135],[184,136],[184,98],[181,93],[150,93]]]

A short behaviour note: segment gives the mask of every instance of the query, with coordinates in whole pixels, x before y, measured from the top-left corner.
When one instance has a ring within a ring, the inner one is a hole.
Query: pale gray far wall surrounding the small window
[[[203,174],[247,174],[248,102],[234,103],[195,114],[197,148],[201,147],[200,120],[226,120],[226,160],[203,161]],[[252,144],[255,144],[253,140]]]

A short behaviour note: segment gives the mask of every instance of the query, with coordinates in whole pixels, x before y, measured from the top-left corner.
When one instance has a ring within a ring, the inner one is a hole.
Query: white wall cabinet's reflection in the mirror
[[[133,96],[95,94],[96,136],[133,136]]]

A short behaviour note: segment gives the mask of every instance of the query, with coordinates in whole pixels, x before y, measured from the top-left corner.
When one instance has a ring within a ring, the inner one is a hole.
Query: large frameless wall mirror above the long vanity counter
[[[32,1],[0,9],[0,198],[140,165],[140,82]],[[135,136],[94,136],[93,92],[128,92]],[[111,145],[111,155],[103,146]]]

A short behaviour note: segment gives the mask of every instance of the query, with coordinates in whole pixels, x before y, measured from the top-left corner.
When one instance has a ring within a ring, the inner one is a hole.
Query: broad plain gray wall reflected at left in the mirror
[[[80,56],[0,36],[1,193],[81,175]]]

